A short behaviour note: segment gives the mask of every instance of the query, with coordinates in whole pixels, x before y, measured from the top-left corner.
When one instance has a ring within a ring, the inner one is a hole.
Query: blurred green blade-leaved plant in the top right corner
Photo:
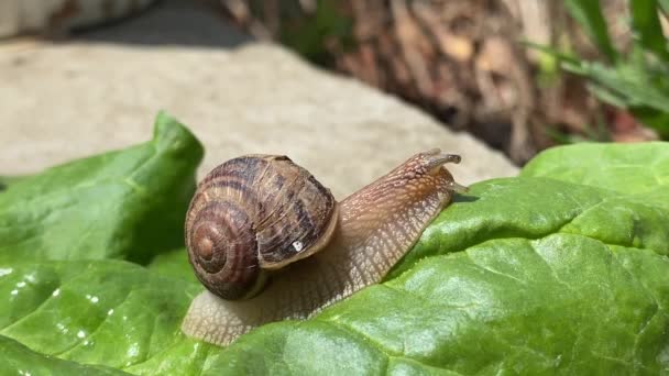
[[[659,14],[669,12],[667,0],[628,1],[633,43],[617,51],[611,41],[599,0],[564,0],[573,19],[599,48],[604,62],[591,62],[550,48],[561,66],[588,77],[591,90],[603,101],[629,110],[638,120],[669,139],[669,42]]]

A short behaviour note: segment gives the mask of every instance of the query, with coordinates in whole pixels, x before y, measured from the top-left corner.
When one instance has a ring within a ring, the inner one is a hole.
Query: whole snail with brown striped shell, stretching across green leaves
[[[453,192],[443,167],[460,156],[419,153],[337,202],[286,156],[248,155],[216,167],[186,215],[190,264],[207,288],[182,323],[228,345],[261,324],[306,319],[381,281]]]

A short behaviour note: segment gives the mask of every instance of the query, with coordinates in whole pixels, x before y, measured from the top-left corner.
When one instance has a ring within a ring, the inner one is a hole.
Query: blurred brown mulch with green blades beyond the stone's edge
[[[523,164],[669,137],[669,0],[222,0],[234,23]]]

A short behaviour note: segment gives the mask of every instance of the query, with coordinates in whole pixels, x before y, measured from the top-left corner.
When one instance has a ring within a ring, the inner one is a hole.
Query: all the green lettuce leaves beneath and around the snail
[[[0,374],[669,372],[667,143],[475,184],[383,284],[226,349],[179,331],[202,287],[172,232],[201,153],[161,114],[145,144],[8,183]]]

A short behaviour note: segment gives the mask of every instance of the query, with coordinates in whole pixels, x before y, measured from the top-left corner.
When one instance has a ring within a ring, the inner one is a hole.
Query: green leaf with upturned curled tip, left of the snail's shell
[[[152,141],[50,168],[0,191],[0,259],[127,258],[183,245],[202,147],[160,113]]]

